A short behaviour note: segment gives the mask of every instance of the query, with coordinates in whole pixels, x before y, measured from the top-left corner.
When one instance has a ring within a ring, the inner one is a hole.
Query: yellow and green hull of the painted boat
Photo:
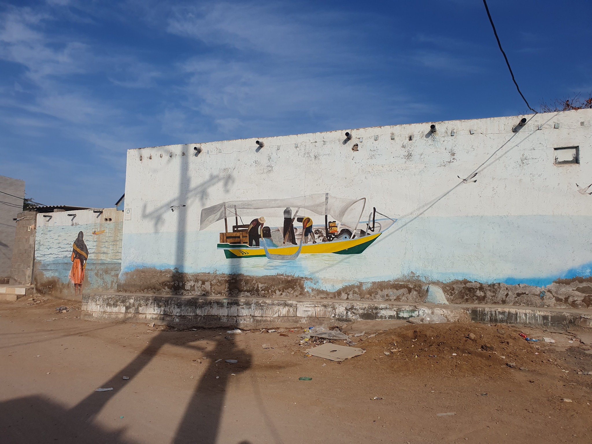
[[[303,244],[301,255],[335,253],[337,255],[358,255],[368,248],[382,233],[371,234],[370,236],[358,237],[356,239],[338,240],[333,242],[317,242],[314,244]],[[241,244],[218,244],[218,249],[224,250],[227,259],[234,258],[261,258],[265,257],[263,247],[249,247]],[[296,253],[298,246],[268,248],[269,253],[274,255],[290,256]]]

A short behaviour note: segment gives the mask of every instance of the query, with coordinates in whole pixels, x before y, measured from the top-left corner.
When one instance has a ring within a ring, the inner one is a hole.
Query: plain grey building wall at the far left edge
[[[16,221],[12,219],[22,211],[25,181],[0,176],[0,191],[0,278],[6,278],[10,276],[12,247],[17,227]]]

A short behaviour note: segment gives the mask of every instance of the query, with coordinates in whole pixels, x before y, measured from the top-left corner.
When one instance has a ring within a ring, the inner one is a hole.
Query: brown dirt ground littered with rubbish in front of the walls
[[[305,356],[302,330],[98,323],[69,304],[0,302],[2,443],[592,442],[588,331],[363,321],[343,330],[366,352],[334,362]]]

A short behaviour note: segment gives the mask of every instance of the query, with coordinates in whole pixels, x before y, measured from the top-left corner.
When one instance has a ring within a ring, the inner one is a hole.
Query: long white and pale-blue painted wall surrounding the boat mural
[[[417,301],[432,282],[451,302],[592,305],[592,196],[575,185],[592,182],[592,110],[527,115],[513,131],[522,117],[129,150],[119,288]],[[580,163],[557,163],[573,146]],[[224,221],[200,231],[210,205],[319,192],[398,221],[359,255],[293,261],[226,259]]]

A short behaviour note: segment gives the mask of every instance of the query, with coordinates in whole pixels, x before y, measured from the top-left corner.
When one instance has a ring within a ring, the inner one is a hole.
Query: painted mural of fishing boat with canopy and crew
[[[366,221],[362,221],[365,207],[365,197],[337,198],[329,193],[222,202],[201,211],[200,230],[224,220],[218,249],[224,250],[227,259],[266,257],[295,260],[301,254],[315,253],[355,255],[362,253],[397,221],[379,213],[376,208],[369,213]],[[324,224],[314,224],[313,218],[305,215],[305,211],[321,216],[321,220],[324,217]],[[265,215],[279,219],[282,214],[283,227],[265,225]],[[377,218],[377,214],[383,218]],[[243,223],[243,216],[253,215],[255,218],[250,223]],[[234,219],[230,231],[229,218],[230,223]]]

